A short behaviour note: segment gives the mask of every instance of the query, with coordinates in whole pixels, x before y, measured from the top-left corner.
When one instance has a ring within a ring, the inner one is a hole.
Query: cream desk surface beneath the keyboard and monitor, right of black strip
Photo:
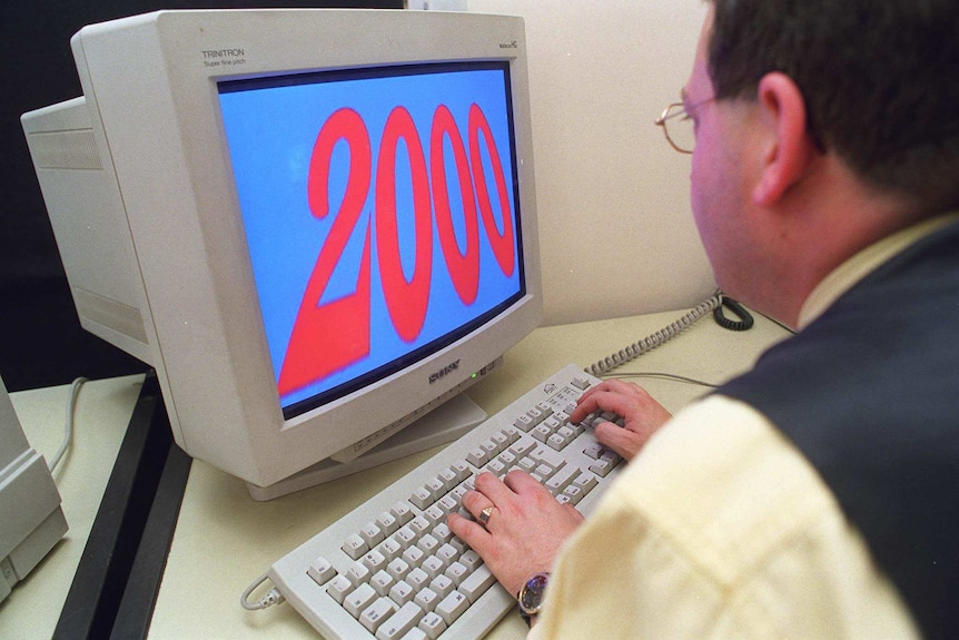
[[[652,314],[537,329],[506,354],[505,366],[496,375],[467,393],[493,414],[564,365],[572,362],[587,366],[658,331],[678,315]],[[706,318],[621,371],[665,372],[719,383],[749,368],[764,348],[785,335],[762,317],[757,317],[757,326],[744,333],[722,329]],[[640,383],[672,411],[706,392],[700,386],[656,378]],[[251,500],[239,480],[194,461],[150,638],[317,638],[288,603],[250,612],[240,608],[240,593],[273,562],[428,455],[416,454],[263,503]],[[525,631],[518,616],[510,614],[488,638],[521,639]]]

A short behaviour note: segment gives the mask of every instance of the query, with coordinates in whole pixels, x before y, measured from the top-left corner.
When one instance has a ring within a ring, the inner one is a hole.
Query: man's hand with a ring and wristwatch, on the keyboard
[[[492,473],[476,476],[476,489],[463,505],[477,519],[449,515],[449,530],[483,558],[507,592],[516,594],[534,573],[550,571],[563,542],[582,524],[583,515],[555,498],[528,473],[511,471],[505,482]],[[484,509],[493,508],[485,525]]]

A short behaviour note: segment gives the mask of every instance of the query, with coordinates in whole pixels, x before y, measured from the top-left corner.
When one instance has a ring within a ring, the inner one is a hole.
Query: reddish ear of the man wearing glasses
[[[792,78],[778,71],[763,76],[757,104],[765,137],[762,175],[752,199],[769,206],[802,179],[817,150],[805,127],[805,100]]]

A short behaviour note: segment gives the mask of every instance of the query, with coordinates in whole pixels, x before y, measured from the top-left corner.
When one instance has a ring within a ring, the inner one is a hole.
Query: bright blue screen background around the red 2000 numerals
[[[406,68],[404,68],[406,69]],[[506,177],[508,209],[514,216],[515,264],[510,276],[503,274],[493,256],[482,216],[480,227],[480,288],[476,301],[464,305],[457,296],[433,224],[433,269],[426,321],[419,336],[405,343],[396,334],[386,308],[376,257],[376,232],[372,226],[372,317],[370,354],[347,368],[335,372],[307,387],[280,398],[287,407],[348,384],[374,371],[389,373],[389,363],[403,358],[431,343],[449,338],[457,329],[487,314],[523,292],[520,263],[520,223],[514,186],[511,140],[511,115],[507,102],[508,81],[502,68],[451,68],[442,71],[390,75],[388,69],[362,77],[336,76],[306,83],[276,82],[274,86],[220,87],[220,108],[227,135],[236,189],[246,229],[259,308],[266,331],[274,377],[279,378],[287,344],[317,256],[326,240],[346,186],[349,151],[345,141],[336,145],[330,163],[330,213],[316,218],[307,203],[307,177],[317,134],[336,110],[348,107],[366,124],[373,151],[372,184],[364,213],[340,263],[320,301],[329,302],[356,288],[360,252],[369,217],[374,214],[376,164],[386,118],[394,107],[405,107],[419,132],[427,166],[431,158],[431,127],[437,106],[449,108],[468,154],[467,114],[477,104],[490,122],[503,174]],[[395,71],[394,71],[395,72]],[[481,136],[481,140],[483,137]],[[461,252],[465,252],[463,203],[456,167],[448,139],[446,181],[452,218]],[[491,157],[485,145],[483,163],[494,218],[502,232],[501,204],[497,197]],[[396,204],[401,262],[408,280],[413,275],[415,240],[413,236],[413,196],[409,163],[401,141],[396,154]],[[431,178],[432,179],[432,178]],[[253,304],[253,301],[250,301]],[[336,336],[329,336],[336,339]],[[447,339],[448,342],[448,339]],[[386,368],[383,368],[386,367]]]

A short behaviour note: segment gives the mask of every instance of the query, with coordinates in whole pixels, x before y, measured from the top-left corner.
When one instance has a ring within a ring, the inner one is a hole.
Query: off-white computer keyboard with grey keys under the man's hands
[[[589,513],[619,472],[591,415],[571,424],[599,380],[567,365],[369,501],[278,560],[267,575],[327,640],[483,638],[516,603],[452,535],[451,512],[481,471],[522,469]],[[619,421],[622,424],[621,421]]]

